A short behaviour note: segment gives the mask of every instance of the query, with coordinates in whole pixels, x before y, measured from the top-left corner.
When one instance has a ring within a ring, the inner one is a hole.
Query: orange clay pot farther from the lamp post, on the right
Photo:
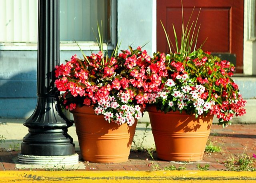
[[[210,135],[213,115],[198,116],[146,109],[159,159],[168,161],[200,161]]]

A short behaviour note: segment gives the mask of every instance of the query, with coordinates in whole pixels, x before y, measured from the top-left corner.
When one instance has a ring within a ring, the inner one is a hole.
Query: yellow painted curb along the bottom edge
[[[0,183],[255,183],[256,172],[0,171]]]

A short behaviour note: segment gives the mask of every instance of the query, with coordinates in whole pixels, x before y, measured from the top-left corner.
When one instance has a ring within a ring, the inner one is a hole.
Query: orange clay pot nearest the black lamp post
[[[92,107],[72,110],[82,158],[94,163],[128,161],[137,121],[132,126],[108,123]]]

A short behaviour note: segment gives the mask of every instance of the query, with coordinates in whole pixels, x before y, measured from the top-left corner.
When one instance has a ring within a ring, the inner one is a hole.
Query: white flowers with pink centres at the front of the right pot
[[[188,74],[178,74],[173,77],[175,78],[166,81],[161,92],[152,93],[149,103],[161,103],[160,109],[164,112],[183,110],[195,114],[196,117],[210,112],[215,102],[205,100],[204,86],[194,85]]]

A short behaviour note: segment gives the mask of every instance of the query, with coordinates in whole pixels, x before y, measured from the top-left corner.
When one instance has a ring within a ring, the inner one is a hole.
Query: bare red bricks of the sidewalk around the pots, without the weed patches
[[[107,170],[133,170],[133,171],[150,171],[163,170],[164,167],[174,165],[175,167],[185,167],[186,170],[198,170],[197,165],[201,167],[209,165],[209,170],[228,170],[224,166],[224,161],[232,157],[242,157],[246,154],[252,157],[256,153],[256,125],[231,125],[222,128],[219,125],[212,125],[209,141],[222,147],[220,153],[205,153],[203,160],[198,162],[169,162],[157,159],[156,153],[153,158],[146,152],[130,152],[129,160],[125,163],[84,163],[85,170],[88,171],[107,171]],[[20,151],[1,151],[0,152],[0,170],[21,170],[15,167],[17,155]],[[79,152],[77,152],[79,154]],[[255,167],[256,168],[256,167]],[[29,170],[29,169],[22,169]],[[45,169],[36,169],[45,170]],[[77,169],[78,170],[78,169]],[[79,171],[79,170],[78,170]]]

